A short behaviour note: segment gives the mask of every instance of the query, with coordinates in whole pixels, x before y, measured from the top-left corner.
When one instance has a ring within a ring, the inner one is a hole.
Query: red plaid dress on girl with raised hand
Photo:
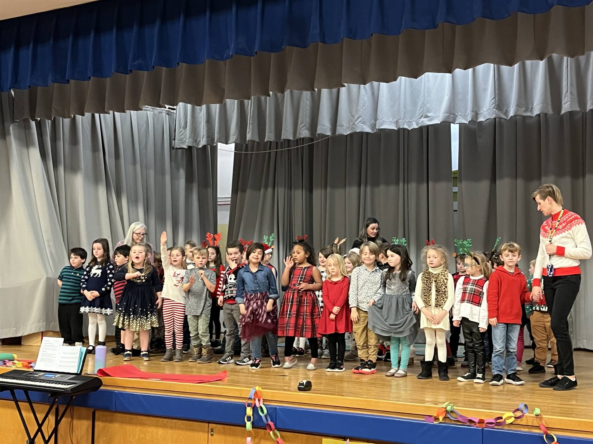
[[[294,266],[291,281],[282,298],[278,318],[278,336],[317,337],[321,308],[311,290],[299,290],[301,284],[314,284],[314,266]]]

